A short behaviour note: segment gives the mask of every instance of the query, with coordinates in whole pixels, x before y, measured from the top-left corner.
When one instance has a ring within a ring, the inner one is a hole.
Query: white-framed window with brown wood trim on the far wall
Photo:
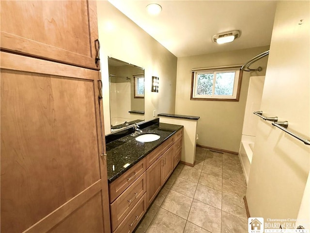
[[[239,101],[241,80],[240,67],[193,70],[190,99]]]

